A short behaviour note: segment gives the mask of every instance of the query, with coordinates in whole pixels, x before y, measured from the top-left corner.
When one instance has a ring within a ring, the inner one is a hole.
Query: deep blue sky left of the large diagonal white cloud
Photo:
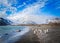
[[[14,2],[16,1],[16,2]],[[11,4],[12,7],[15,7],[17,9],[16,13],[24,10],[26,6],[29,6],[33,3],[37,2],[36,0],[9,0],[8,3]],[[20,6],[20,7],[19,7]],[[8,15],[11,14],[11,11],[6,12]]]

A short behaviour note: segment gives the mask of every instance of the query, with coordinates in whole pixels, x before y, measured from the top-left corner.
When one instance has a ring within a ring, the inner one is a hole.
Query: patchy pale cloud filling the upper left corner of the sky
[[[10,11],[12,14],[17,11],[15,7],[11,6],[12,3],[8,3],[8,1],[9,0],[0,0],[0,17],[5,17],[7,15],[6,11]]]

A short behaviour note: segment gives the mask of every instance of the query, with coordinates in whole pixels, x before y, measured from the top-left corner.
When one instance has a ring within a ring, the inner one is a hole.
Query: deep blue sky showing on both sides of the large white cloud
[[[6,8],[5,14],[7,15],[18,13],[24,10],[25,8],[27,8],[26,6],[32,5],[36,3],[37,1],[38,0],[7,0],[8,5],[11,4],[10,5],[11,7],[16,8],[16,11],[12,12],[8,6],[4,5],[4,0],[3,1],[1,0],[0,11],[3,12]],[[51,15],[58,17],[60,16],[60,1],[59,0],[48,0],[45,6],[40,10],[42,11],[42,13],[50,13]]]

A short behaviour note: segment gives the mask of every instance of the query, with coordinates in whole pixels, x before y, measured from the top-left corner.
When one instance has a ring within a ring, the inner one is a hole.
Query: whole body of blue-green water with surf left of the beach
[[[0,26],[0,43],[13,43],[27,32],[27,26]]]

